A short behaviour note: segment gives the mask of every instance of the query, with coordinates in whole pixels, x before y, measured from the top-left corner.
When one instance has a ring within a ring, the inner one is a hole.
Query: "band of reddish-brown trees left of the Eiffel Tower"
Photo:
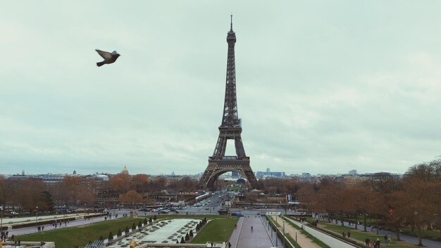
[[[46,184],[37,178],[11,180],[0,176],[0,206],[15,207],[21,213],[54,211],[56,208],[89,205],[99,197],[114,197],[118,202],[151,204],[151,194],[197,190],[198,181],[191,178],[149,178],[148,175],[117,174],[108,182],[94,178],[66,176],[60,182]]]

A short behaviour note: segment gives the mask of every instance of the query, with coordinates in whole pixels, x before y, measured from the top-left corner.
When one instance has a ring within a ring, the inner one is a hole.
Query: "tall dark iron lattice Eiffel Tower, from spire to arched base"
[[[247,178],[251,187],[259,188],[259,183],[249,166],[249,156],[245,154],[242,143],[242,125],[237,114],[236,97],[236,69],[235,69],[235,43],[236,35],[232,31],[232,20],[230,32],[227,35],[228,59],[227,79],[225,83],[225,103],[223,105],[222,124],[219,127],[219,137],[214,149],[213,156],[209,157],[209,166],[206,167],[199,185],[201,188],[213,189],[214,182],[219,175],[229,171],[236,171],[244,178]],[[235,141],[236,156],[225,156],[227,140]]]

